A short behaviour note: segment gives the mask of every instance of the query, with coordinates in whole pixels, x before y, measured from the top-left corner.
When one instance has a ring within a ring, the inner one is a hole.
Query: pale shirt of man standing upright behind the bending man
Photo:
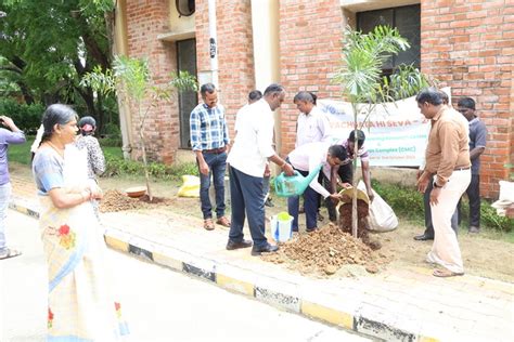
[[[327,142],[331,139],[329,117],[317,106],[309,114],[300,113],[296,129],[295,147],[308,143]]]

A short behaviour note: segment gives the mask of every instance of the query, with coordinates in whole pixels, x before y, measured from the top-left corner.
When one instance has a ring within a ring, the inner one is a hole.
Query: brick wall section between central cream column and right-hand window
[[[293,97],[298,91],[340,97],[340,88],[331,84],[331,79],[340,68],[342,38],[338,0],[280,1],[280,78],[287,92],[280,111],[282,155],[295,145],[298,110]]]

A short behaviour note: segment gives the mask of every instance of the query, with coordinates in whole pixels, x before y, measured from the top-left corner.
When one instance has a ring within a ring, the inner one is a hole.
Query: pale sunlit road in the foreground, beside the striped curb
[[[37,221],[10,210],[8,242],[24,254],[0,261],[0,341],[44,341],[47,274]],[[370,341],[110,250],[128,341]]]

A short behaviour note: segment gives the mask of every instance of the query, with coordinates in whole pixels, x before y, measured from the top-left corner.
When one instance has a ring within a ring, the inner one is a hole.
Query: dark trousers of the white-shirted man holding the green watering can
[[[262,177],[248,175],[233,167],[230,168],[229,173],[232,208],[229,240],[243,241],[244,220],[245,216],[248,216],[249,234],[254,240],[254,246],[257,248],[267,246]]]

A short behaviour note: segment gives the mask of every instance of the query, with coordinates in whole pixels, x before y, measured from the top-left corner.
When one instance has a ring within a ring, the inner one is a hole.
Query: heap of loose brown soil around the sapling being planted
[[[332,275],[344,265],[363,265],[370,273],[378,272],[386,263],[385,255],[377,254],[360,239],[329,224],[281,246],[277,253],[264,254],[262,259],[273,263],[290,263],[300,273],[324,273]]]

